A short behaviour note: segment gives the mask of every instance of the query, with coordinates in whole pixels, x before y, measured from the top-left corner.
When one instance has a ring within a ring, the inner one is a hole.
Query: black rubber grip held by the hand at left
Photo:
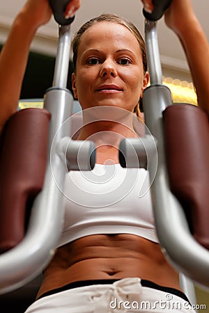
[[[65,19],[64,13],[68,3],[69,0],[49,0],[49,4],[54,14],[54,19],[60,25],[70,25],[75,19],[75,16]]]

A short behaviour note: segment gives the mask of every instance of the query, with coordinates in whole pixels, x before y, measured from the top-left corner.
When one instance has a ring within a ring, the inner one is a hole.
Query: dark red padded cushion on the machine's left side
[[[42,188],[50,113],[24,109],[13,114],[1,134],[0,253],[20,243],[26,216]]]

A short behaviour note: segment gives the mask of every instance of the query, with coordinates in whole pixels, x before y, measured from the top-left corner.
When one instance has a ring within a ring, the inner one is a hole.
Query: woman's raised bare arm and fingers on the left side
[[[79,0],[71,0],[65,16],[75,14]],[[0,55],[0,132],[17,110],[29,49],[37,29],[49,22],[52,10],[48,0],[28,0],[15,18]]]

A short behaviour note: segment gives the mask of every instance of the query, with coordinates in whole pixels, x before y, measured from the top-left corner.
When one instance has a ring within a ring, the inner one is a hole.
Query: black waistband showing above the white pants
[[[57,294],[61,291],[66,291],[69,289],[91,286],[93,284],[113,284],[114,282],[117,282],[118,280],[120,280],[120,279],[117,279],[117,280],[114,280],[114,279],[110,279],[110,280],[79,280],[77,282],[70,282],[70,284],[65,284],[65,286],[63,286],[63,287],[52,289],[52,290],[45,292],[40,297],[36,298],[36,300],[39,300],[40,298],[43,298],[45,296]],[[180,291],[176,288],[164,287],[164,286],[161,286],[160,284],[155,284],[155,282],[152,282],[150,280],[143,280],[143,279],[141,279],[141,286],[157,289],[160,291],[164,291],[164,292],[167,292],[168,294],[173,294],[175,296],[182,298],[183,300],[185,300],[189,303],[189,299],[187,298],[187,296],[182,291]]]

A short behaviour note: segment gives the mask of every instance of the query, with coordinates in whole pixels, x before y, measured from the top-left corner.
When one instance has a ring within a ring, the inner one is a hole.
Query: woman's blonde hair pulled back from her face
[[[141,33],[139,33],[137,27],[134,26],[132,22],[128,21],[124,17],[120,17],[115,14],[102,14],[98,17],[94,17],[93,19],[90,19],[88,22],[84,23],[79,29],[79,31],[77,31],[72,41],[72,50],[73,50],[72,61],[73,61],[75,72],[76,72],[76,65],[77,65],[77,54],[78,54],[80,42],[82,40],[82,35],[87,31],[87,29],[89,29],[91,26],[93,26],[95,23],[98,23],[98,22],[118,23],[118,24],[121,24],[122,26],[125,26],[131,33],[134,34],[134,36],[137,38],[137,41],[139,42],[139,47],[141,49],[143,68],[144,68],[144,74],[145,74],[146,71],[148,70],[148,64],[147,64],[147,58],[146,58],[145,42],[141,36]],[[141,102],[141,98],[137,106],[135,106],[134,112],[137,113],[139,120],[143,121],[144,119],[142,118],[141,111],[139,109],[140,102]]]

